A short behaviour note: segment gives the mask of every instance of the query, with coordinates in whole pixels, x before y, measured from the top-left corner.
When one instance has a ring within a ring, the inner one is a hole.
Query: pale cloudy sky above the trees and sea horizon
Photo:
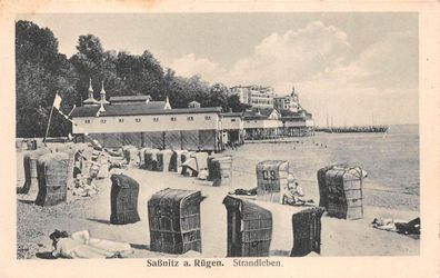
[[[211,83],[294,87],[318,125],[419,121],[419,24],[406,12],[20,14],[59,51],[94,34],[106,50],[149,50],[177,75]]]

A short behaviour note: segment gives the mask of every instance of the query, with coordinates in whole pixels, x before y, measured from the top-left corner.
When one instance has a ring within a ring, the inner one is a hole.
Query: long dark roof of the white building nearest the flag
[[[173,113],[209,113],[209,112],[221,112],[221,107],[207,107],[207,108],[177,108],[177,109],[163,109],[151,106],[151,102],[163,102],[164,101],[150,101],[143,105],[104,105],[104,112],[100,113],[100,117],[110,116],[137,116],[137,115],[173,115]],[[84,106],[77,107],[71,112],[72,118],[79,117],[96,117],[99,110],[99,106]]]

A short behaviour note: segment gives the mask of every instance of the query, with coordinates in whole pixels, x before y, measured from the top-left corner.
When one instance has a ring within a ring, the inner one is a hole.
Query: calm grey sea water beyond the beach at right
[[[234,180],[256,185],[257,162],[287,160],[300,185],[317,196],[317,171],[329,165],[348,163],[368,172],[363,181],[367,203],[418,209],[418,125],[390,126],[387,133],[317,132],[313,137],[290,139],[287,143],[246,143],[238,151],[228,151],[234,157]]]

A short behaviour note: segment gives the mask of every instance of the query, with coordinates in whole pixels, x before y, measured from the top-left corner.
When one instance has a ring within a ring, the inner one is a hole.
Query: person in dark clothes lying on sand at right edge
[[[399,220],[399,219],[381,219],[374,218],[371,222],[373,228],[380,230],[396,231],[403,235],[420,235],[420,218],[416,218],[411,221]]]

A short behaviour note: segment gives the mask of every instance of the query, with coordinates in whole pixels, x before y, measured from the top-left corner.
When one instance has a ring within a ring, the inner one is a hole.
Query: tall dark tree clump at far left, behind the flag
[[[66,56],[58,52],[58,40],[48,28],[30,21],[16,22],[16,112],[17,137],[42,137],[56,92],[63,106],[71,106],[76,73]],[[64,120],[66,121],[66,120]],[[52,135],[64,135],[66,122],[54,122]],[[57,125],[59,123],[59,125]]]

